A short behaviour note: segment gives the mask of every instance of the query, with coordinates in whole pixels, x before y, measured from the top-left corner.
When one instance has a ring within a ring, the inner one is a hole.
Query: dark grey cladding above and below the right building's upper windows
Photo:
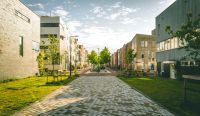
[[[187,14],[192,13],[193,19],[200,14],[200,0],[176,0],[171,6],[156,17],[156,42],[167,40],[170,35],[165,31],[166,26],[170,26],[174,31],[180,29],[187,21]],[[185,52],[173,49],[157,53],[158,62],[166,60],[180,60]]]

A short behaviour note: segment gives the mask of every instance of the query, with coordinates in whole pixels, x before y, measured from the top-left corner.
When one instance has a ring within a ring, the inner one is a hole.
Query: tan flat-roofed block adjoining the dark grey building
[[[137,54],[133,62],[134,70],[156,71],[155,35],[136,34],[130,43]]]

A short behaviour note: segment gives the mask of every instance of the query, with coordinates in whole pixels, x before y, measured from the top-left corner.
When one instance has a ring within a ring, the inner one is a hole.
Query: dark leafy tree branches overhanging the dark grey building
[[[192,14],[188,14],[187,22],[181,26],[180,30],[174,32],[170,26],[167,26],[165,30],[172,37],[181,40],[183,47],[180,49],[185,49],[188,52],[186,57],[193,59],[200,66],[200,15],[193,20]]]

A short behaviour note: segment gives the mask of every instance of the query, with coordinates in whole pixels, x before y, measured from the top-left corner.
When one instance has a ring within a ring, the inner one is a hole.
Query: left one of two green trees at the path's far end
[[[98,64],[98,55],[97,53],[92,50],[90,54],[88,54],[88,61],[93,65],[93,69],[94,69],[94,65]]]

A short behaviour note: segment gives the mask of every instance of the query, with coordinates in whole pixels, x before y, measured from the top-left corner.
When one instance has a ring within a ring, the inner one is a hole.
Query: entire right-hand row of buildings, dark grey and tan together
[[[194,60],[184,56],[188,53],[184,49],[179,49],[181,41],[171,37],[166,32],[166,26],[170,26],[173,31],[179,30],[187,21],[187,14],[193,15],[193,20],[200,14],[199,0],[176,0],[155,18],[156,27],[152,35],[136,34],[133,40],[118,49],[111,60],[112,67],[125,67],[126,47],[134,49],[137,57],[133,62],[135,70],[154,70],[163,77],[177,78],[179,70],[176,66],[180,64],[182,74],[199,74],[197,64]]]

